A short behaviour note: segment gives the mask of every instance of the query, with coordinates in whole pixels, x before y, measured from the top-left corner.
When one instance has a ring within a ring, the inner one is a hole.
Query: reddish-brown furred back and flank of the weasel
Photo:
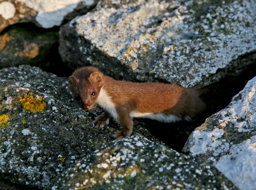
[[[105,86],[105,85],[104,85]],[[108,81],[108,94],[116,106],[125,107],[136,113],[162,113],[194,117],[205,108],[197,89],[183,88],[164,83],[132,83],[126,81]],[[105,88],[105,87],[104,87]]]

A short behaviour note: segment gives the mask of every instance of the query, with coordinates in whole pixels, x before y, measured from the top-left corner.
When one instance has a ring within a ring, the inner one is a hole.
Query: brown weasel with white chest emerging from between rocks
[[[122,139],[132,133],[132,118],[143,117],[164,123],[192,121],[206,108],[200,92],[165,83],[117,81],[96,67],[82,67],[68,78],[69,90],[84,110],[98,104],[105,111],[95,118],[95,127],[104,127],[112,116],[123,128],[113,136]]]

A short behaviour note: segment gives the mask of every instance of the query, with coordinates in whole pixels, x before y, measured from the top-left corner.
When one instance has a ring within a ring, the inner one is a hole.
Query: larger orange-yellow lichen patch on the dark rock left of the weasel
[[[33,96],[27,94],[24,96],[24,98],[20,99],[20,102],[25,109],[36,113],[43,111],[46,107],[46,103],[42,99],[42,96],[39,96],[37,99],[35,99]]]

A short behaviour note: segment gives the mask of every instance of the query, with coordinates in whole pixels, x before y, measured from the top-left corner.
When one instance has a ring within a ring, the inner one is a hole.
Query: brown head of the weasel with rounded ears
[[[90,67],[82,67],[76,70],[68,78],[68,88],[72,92],[78,105],[84,110],[90,110],[96,106],[96,100],[102,87],[101,72],[88,72]]]

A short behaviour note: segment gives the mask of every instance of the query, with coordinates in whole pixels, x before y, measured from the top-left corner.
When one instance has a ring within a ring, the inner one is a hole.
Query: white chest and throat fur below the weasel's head
[[[114,119],[117,119],[116,106],[103,87],[100,89],[96,103],[106,110]]]

